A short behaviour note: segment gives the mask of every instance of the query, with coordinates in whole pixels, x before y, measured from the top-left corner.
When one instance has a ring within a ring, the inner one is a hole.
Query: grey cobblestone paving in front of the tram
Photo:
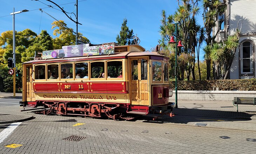
[[[45,115],[35,115],[35,117],[33,120],[22,122],[0,144],[0,153],[255,153],[255,131],[175,124],[175,120],[177,123],[181,116],[177,116],[176,119],[169,118],[170,120],[159,119],[155,123],[145,118],[128,122]],[[173,120],[173,123],[167,122],[168,120]],[[77,123],[85,124],[73,126]],[[234,122],[230,121],[230,123]],[[0,131],[7,126],[1,124]],[[86,139],[78,142],[63,140],[71,135]],[[229,138],[223,139],[225,137]],[[13,143],[23,146],[14,149],[4,147]]]

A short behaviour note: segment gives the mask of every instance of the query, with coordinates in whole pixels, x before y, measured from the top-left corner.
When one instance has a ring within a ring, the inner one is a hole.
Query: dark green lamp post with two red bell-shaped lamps
[[[178,33],[178,23],[175,23],[175,37],[176,37],[176,41],[174,41],[174,37],[171,37],[171,40],[168,42],[170,44],[176,44],[175,45],[175,108],[178,108],[178,83],[177,83],[177,51],[178,51],[178,47],[183,47],[183,45],[181,44],[181,41],[178,42],[177,44],[177,33]]]

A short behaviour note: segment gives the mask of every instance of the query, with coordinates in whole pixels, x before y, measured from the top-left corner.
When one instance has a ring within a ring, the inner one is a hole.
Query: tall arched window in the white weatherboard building
[[[252,56],[252,44],[249,41],[245,41],[241,44],[241,74],[252,73],[253,68],[253,56]]]

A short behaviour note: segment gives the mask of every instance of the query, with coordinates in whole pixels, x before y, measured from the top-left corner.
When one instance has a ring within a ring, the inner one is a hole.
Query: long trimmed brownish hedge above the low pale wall
[[[170,82],[170,88],[175,89],[175,81]],[[255,91],[256,79],[178,81],[178,90]]]

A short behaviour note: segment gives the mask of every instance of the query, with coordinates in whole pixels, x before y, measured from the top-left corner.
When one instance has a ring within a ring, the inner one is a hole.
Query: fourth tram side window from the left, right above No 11
[[[76,63],[75,64],[75,78],[88,79],[88,63]]]

